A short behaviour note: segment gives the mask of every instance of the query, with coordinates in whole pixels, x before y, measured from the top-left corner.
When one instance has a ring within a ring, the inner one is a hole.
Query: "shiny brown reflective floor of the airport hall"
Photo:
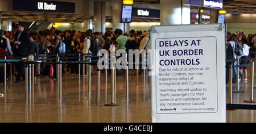
[[[250,69],[249,69],[250,70]],[[250,80],[241,84],[245,94],[233,94],[233,103],[243,104],[250,98]],[[236,85],[234,90],[236,90]],[[0,93],[5,93],[0,83]],[[125,77],[117,76],[116,103],[118,107],[106,107],[110,103],[110,77],[101,78],[100,106],[96,106],[96,76],[92,77],[92,104],[88,104],[87,78],[85,85],[78,76],[64,74],[63,98],[60,105],[56,81],[36,79],[34,97],[26,104],[24,83],[8,83],[6,97],[0,98],[0,122],[151,122],[150,77],[130,76],[129,103],[125,98]],[[229,98],[227,85],[227,101]],[[254,95],[255,97],[255,95]],[[256,111],[227,111],[227,122],[256,122]]]

